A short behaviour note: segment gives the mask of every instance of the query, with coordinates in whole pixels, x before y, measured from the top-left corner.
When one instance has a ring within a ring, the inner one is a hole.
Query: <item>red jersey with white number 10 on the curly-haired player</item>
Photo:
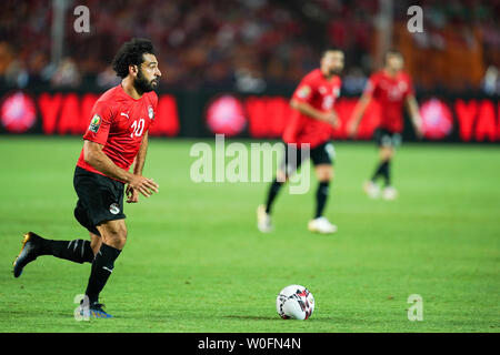
[[[119,84],[104,92],[93,105],[83,139],[104,145],[103,153],[114,164],[128,171],[139,152],[144,133],[153,123],[157,104],[158,95],[154,91],[136,100]],[[104,175],[84,161],[83,149],[77,165]]]

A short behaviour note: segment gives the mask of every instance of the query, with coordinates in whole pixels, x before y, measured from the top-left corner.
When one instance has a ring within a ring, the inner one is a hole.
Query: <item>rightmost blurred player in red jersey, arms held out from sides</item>
[[[380,195],[380,189],[377,184],[379,176],[384,179],[383,199],[393,200],[398,195],[398,192],[391,185],[390,163],[396,148],[401,143],[403,103],[408,106],[417,136],[422,136],[421,118],[411,79],[402,71],[402,68],[403,58],[401,53],[389,51],[386,54],[384,69],[370,77],[364,92],[354,108],[349,126],[349,135],[354,136],[370,100],[373,98],[379,101],[382,120],[376,132],[376,140],[379,145],[380,161],[371,180],[363,184],[364,192],[373,199]]]

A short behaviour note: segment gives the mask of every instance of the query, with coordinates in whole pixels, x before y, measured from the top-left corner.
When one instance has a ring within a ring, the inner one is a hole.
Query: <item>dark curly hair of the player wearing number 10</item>
[[[124,42],[114,55],[112,65],[117,75],[126,78],[129,74],[129,65],[138,65],[143,62],[142,54],[154,54],[154,48],[150,40],[133,38]]]

